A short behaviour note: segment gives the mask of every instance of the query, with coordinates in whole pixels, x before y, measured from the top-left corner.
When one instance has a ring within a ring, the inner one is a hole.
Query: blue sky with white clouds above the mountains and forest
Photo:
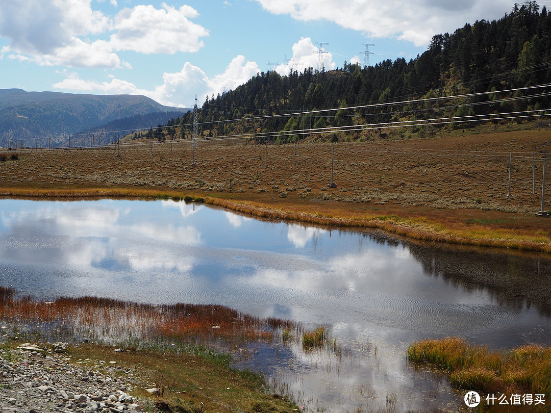
[[[198,106],[257,73],[374,65],[510,13],[509,0],[2,0],[0,89]],[[521,3],[521,2],[519,2]],[[320,53],[320,50],[322,53]]]

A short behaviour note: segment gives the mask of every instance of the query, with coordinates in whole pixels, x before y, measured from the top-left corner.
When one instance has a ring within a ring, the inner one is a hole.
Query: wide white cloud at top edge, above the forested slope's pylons
[[[453,31],[476,15],[487,20],[503,17],[512,7],[506,0],[256,0],[274,14],[296,20],[328,20],[366,36],[395,37],[427,45],[437,33]]]

